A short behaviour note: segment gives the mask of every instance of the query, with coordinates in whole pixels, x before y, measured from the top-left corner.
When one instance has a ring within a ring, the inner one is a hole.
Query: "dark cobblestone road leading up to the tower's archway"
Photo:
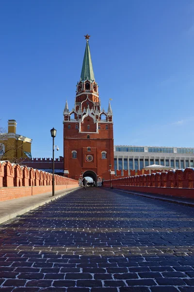
[[[194,292],[194,209],[75,191],[0,225],[0,291]]]

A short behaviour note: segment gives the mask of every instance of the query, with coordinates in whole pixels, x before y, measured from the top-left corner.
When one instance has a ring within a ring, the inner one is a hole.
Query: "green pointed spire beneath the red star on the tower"
[[[81,69],[81,80],[83,81],[86,79],[88,79],[90,81],[95,80],[88,39],[86,42],[85,54],[84,54],[84,58],[83,58],[83,65],[82,65],[82,69]]]

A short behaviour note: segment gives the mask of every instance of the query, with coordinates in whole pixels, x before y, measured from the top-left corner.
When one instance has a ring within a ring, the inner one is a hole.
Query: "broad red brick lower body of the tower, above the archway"
[[[87,117],[85,120],[86,125],[87,123],[92,125],[91,117],[89,121]],[[68,129],[68,124],[71,125],[71,129]],[[79,129],[75,128],[76,123],[64,123],[64,169],[69,171],[68,177],[75,179],[81,176],[81,171],[92,170],[101,179],[110,178],[109,164],[112,164],[112,170],[114,169],[113,124],[107,124],[108,130],[105,129],[106,124],[99,122],[99,125],[99,133],[89,133],[90,139],[87,139],[87,133],[79,133]],[[87,151],[87,147],[91,147],[90,152]],[[72,158],[73,150],[77,151],[76,159]],[[106,159],[102,159],[102,151],[107,152]],[[89,154],[94,157],[92,162],[87,162],[85,159]]]

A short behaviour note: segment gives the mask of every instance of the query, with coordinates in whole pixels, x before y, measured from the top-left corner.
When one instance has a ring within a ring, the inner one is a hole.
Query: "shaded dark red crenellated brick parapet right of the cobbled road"
[[[104,181],[103,186],[194,199],[194,168],[152,172]]]

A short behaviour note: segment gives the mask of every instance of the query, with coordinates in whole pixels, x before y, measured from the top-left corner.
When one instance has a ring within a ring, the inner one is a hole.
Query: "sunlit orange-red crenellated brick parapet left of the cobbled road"
[[[78,181],[54,176],[55,190],[77,187]],[[50,192],[52,174],[9,161],[0,161],[0,201]]]

